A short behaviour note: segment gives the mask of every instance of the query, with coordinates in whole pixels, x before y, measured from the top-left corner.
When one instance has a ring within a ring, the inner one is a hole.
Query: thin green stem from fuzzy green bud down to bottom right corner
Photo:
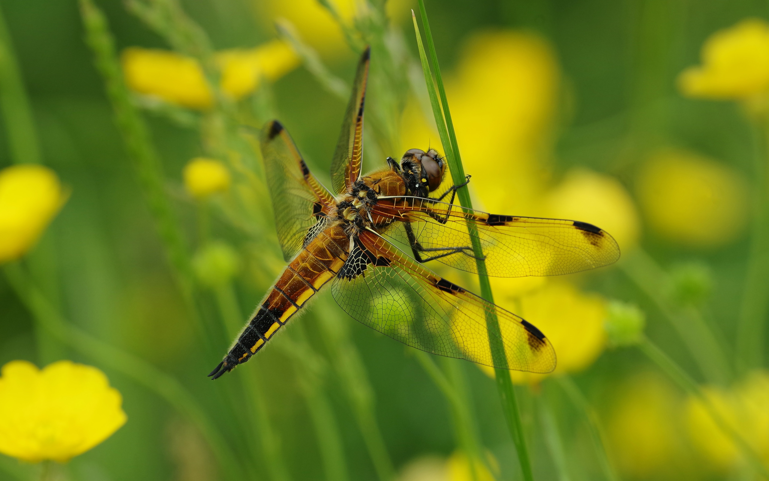
[[[718,413],[716,407],[711,403],[711,400],[704,395],[704,392],[702,392],[700,386],[697,385],[697,382],[695,382],[694,379],[691,379],[687,372],[684,371],[684,369],[681,369],[681,366],[678,366],[673,359],[662,351],[662,349],[658,348],[646,337],[641,339],[641,342],[638,343],[638,349],[641,349],[641,352],[651,359],[652,362],[657,364],[657,366],[662,369],[667,376],[670,376],[678,386],[681,386],[681,389],[684,389],[685,392],[688,392],[691,396],[699,399],[705,409],[707,409],[707,413],[711,416],[714,423],[716,423],[718,428],[721,429],[726,436],[730,437],[735,445],[737,445],[737,448],[741,450],[745,459],[747,459],[747,462],[750,463],[755,472],[760,476],[763,476],[764,479],[769,479],[769,469],[764,465],[761,456],[759,456],[753,447],[747,443],[742,434],[739,433],[737,429],[734,429],[734,427],[721,416],[721,413]]]

